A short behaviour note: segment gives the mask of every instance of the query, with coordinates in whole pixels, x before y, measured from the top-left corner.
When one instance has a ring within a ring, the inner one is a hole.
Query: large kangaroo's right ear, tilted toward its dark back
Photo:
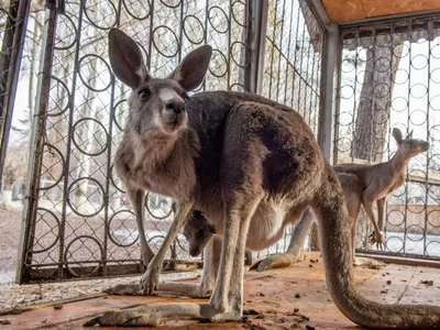
[[[168,76],[176,80],[186,91],[190,91],[204,81],[211,59],[212,47],[204,45],[184,57],[178,67]]]

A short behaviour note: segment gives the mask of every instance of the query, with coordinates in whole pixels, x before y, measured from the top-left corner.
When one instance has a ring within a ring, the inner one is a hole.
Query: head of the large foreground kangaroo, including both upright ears
[[[204,80],[212,48],[190,52],[166,78],[150,76],[141,48],[118,29],[109,32],[109,58],[114,75],[132,89],[129,129],[141,139],[151,132],[175,134],[187,127],[188,92]]]

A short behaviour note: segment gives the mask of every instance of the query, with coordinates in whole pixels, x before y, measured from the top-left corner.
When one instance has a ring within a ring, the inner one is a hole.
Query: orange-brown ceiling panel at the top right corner
[[[440,0],[321,0],[334,23],[376,16],[440,10]]]

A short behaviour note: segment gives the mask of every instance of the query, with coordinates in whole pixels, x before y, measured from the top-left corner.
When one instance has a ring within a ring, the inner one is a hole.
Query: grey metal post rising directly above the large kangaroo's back
[[[248,66],[244,68],[244,90],[261,94],[266,47],[268,1],[246,1],[246,43]]]

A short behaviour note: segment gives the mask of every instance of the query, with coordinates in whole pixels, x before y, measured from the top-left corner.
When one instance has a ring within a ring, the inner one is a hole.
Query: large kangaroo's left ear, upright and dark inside
[[[109,32],[109,58],[114,75],[132,89],[148,78],[140,47],[116,28]]]

